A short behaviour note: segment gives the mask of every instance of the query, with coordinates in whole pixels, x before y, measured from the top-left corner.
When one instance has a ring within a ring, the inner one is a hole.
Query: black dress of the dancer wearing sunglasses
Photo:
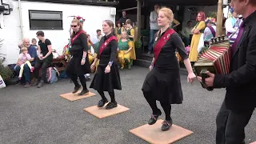
[[[79,32],[77,32],[78,34]],[[83,51],[86,51],[86,63],[81,65]],[[70,48],[72,58],[66,67],[68,74],[83,75],[90,73],[90,63],[88,58],[88,43],[86,34],[82,33],[74,40],[73,46]]]

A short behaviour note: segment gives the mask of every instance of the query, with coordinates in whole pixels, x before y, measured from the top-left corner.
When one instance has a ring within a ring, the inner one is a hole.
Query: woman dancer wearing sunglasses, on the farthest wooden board
[[[86,87],[86,78],[84,74],[90,73],[90,63],[88,58],[88,43],[85,31],[78,19],[74,19],[71,23],[73,33],[71,35],[70,54],[73,56],[66,67],[66,73],[74,82],[74,91],[78,92],[81,85],[78,84],[78,77],[82,84],[82,91],[78,95],[88,94]]]

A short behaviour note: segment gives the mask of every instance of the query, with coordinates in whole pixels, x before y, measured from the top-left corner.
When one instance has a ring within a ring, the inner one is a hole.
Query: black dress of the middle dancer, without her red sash
[[[113,34],[102,37],[99,42],[99,46],[102,46],[102,43],[105,42],[107,38],[110,38]],[[98,69],[94,75],[94,79],[90,84],[90,88],[98,91],[113,91],[122,90],[120,75],[117,65],[117,50],[118,42],[112,40],[106,48],[102,51],[101,56],[97,55],[99,59]],[[109,62],[113,62],[110,73],[105,74],[105,68]]]

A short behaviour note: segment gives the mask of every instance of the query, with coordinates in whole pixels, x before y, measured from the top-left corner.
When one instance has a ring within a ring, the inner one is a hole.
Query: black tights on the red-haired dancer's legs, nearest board
[[[146,101],[150,104],[150,107],[153,111],[153,115],[159,115],[161,114],[161,111],[158,109],[156,99],[153,98],[152,92],[143,91],[144,97],[146,98]],[[170,121],[170,110],[171,106],[169,102],[160,102],[162,109],[165,111],[166,114],[166,121]]]

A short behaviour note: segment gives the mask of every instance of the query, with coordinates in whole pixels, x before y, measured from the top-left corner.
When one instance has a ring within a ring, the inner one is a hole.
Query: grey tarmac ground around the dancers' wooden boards
[[[147,143],[129,133],[129,130],[146,124],[151,114],[141,90],[147,72],[147,69],[136,66],[121,72],[123,90],[116,91],[116,98],[119,104],[130,110],[104,119],[82,110],[94,106],[100,99],[99,95],[76,102],[59,97],[59,94],[73,89],[68,79],[41,89],[6,87],[0,90],[0,143]],[[202,89],[199,82],[190,85],[186,83],[186,76],[181,78],[184,102],[173,106],[171,116],[174,124],[192,130],[194,134],[177,143],[214,144],[215,117],[225,90],[208,92]],[[164,114],[161,118],[164,118]],[[256,141],[255,127],[254,112],[246,126],[246,142]]]

